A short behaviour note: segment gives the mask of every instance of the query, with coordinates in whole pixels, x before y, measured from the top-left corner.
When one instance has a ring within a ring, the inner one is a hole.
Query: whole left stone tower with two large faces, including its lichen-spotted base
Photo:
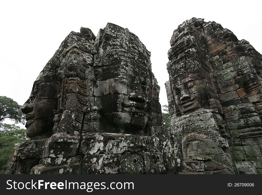
[[[22,107],[31,141],[5,173],[177,173],[159,90],[150,52],[127,28],[71,32]]]

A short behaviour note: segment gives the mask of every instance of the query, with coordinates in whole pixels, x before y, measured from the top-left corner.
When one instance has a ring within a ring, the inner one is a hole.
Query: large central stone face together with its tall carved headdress
[[[144,134],[153,102],[150,53],[127,28],[110,23],[96,41],[95,104],[118,131]]]

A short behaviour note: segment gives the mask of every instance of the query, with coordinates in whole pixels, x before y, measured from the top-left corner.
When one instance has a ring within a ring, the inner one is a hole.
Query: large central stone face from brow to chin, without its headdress
[[[120,61],[123,65],[95,68],[95,102],[120,131],[143,134],[151,115],[152,75],[142,65]]]

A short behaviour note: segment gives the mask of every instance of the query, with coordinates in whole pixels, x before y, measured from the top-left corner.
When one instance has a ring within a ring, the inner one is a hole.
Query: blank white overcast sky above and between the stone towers
[[[152,71],[167,104],[164,83],[173,31],[192,17],[216,21],[262,52],[261,1],[1,1],[0,96],[22,105],[45,64],[81,26],[97,35],[107,22],[128,28],[151,51]]]

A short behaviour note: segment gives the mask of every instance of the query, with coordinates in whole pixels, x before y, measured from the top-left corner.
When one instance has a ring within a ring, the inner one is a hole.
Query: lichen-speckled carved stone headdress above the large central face
[[[112,61],[122,59],[135,62],[139,66],[151,67],[151,53],[127,28],[108,23],[99,37],[102,37],[99,38],[101,44],[97,56],[100,63],[95,64],[96,66],[108,66]],[[110,63],[105,63],[105,61],[110,61]]]

